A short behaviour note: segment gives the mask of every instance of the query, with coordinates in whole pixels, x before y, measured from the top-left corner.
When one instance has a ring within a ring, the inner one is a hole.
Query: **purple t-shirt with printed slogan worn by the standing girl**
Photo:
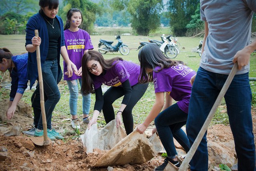
[[[92,40],[90,35],[85,30],[79,29],[77,32],[71,32],[70,30],[64,31],[65,36],[65,46],[68,51],[69,59],[76,65],[76,68],[82,66],[82,57],[84,55],[85,50],[93,49]],[[64,73],[67,72],[67,64],[63,61]],[[64,74],[64,80],[76,80],[81,78],[76,74],[73,74],[72,77],[68,78],[67,75]]]

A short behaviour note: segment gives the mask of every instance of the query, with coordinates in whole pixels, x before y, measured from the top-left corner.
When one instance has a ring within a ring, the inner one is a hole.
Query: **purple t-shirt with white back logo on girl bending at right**
[[[158,70],[156,67],[154,70]],[[195,71],[179,64],[169,68],[164,68],[159,72],[153,72],[153,82],[155,93],[167,92],[182,111],[188,113],[188,104],[192,85],[190,78],[196,74]]]

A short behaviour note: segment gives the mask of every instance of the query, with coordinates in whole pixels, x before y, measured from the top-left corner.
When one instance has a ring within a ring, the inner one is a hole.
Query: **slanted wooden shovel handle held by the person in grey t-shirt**
[[[200,142],[202,141],[202,138],[204,137],[204,134],[210,124],[210,122],[212,121],[212,117],[214,116],[216,110],[218,109],[218,106],[220,105],[220,102],[222,100],[222,98],[224,97],[224,95],[226,94],[229,85],[231,84],[236,72],[238,70],[238,64],[237,62],[234,64],[230,74],[228,75],[228,78],[225,82],[225,84],[223,85],[222,89],[220,90],[220,93],[214,103],[214,105],[212,106],[212,109],[208,115],[208,117],[206,118],[204,125],[202,126],[200,132],[198,133],[192,147],[190,148],[190,150],[188,151],[188,154],[186,155],[184,161],[182,162],[182,164],[180,165],[180,169],[179,171],[186,171],[187,167],[188,167],[188,163],[190,162],[190,160],[192,159],[193,155],[196,152],[196,149],[198,148],[198,145],[200,144]],[[188,130],[189,131],[189,130]]]

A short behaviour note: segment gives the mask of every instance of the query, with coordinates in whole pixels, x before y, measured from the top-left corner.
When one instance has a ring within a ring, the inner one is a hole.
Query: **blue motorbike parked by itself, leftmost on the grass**
[[[100,39],[98,51],[101,54],[106,54],[107,52],[118,52],[119,50],[122,55],[128,55],[130,50],[127,45],[123,44],[120,34],[116,36],[115,40],[118,40],[118,43],[112,46],[113,41]]]

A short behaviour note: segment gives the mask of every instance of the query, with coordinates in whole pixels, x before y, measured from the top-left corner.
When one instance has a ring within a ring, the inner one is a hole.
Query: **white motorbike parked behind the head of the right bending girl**
[[[167,58],[176,58],[176,56],[178,55],[178,51],[176,47],[173,45],[170,45],[166,39],[165,40],[162,39],[162,41],[152,40],[152,39],[149,39],[148,42],[140,41],[140,46],[138,47],[137,50],[139,50],[140,48],[142,48],[143,46],[149,43],[156,44],[160,48],[160,50],[166,55]]]

